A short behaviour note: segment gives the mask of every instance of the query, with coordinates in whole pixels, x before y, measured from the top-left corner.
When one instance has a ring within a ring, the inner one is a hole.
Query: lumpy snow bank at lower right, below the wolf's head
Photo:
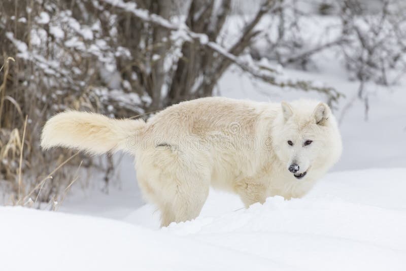
[[[261,206],[166,229],[295,270],[404,270],[406,213],[335,198],[268,198]]]

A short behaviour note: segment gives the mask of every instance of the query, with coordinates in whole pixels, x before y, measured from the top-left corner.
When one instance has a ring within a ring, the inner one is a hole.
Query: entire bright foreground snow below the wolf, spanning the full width
[[[160,230],[148,205],[124,215],[116,202],[129,223],[2,207],[0,269],[400,271],[405,175],[406,168],[331,173],[302,199],[272,197],[248,210],[211,191],[196,220]]]

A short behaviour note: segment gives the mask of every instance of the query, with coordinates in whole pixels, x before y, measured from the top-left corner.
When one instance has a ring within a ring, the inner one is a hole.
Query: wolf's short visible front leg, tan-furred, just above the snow
[[[256,202],[263,204],[266,200],[267,187],[257,180],[245,179],[239,181],[235,184],[234,189],[240,195],[246,208]]]

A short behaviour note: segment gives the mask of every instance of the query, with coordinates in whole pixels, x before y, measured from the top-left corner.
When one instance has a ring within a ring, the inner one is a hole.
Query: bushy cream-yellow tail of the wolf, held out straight
[[[129,140],[142,137],[142,119],[111,119],[104,115],[66,111],[50,118],[42,130],[41,146],[74,148],[93,154],[128,151]]]

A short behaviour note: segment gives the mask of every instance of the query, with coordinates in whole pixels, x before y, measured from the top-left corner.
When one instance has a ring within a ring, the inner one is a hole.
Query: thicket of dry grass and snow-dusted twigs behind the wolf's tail
[[[50,5],[66,8],[62,2]],[[31,12],[25,9],[28,6]],[[45,203],[57,209],[56,202],[60,204],[80,179],[83,171],[75,172],[78,165],[88,168],[94,162],[92,157],[68,150],[43,152],[41,129],[50,116],[67,108],[108,113],[109,101],[95,95],[105,88],[94,69],[94,56],[80,55],[58,41],[46,40],[40,46],[31,43],[32,33],[49,30],[33,20],[42,11],[43,5],[31,0],[0,4],[0,204],[40,208]],[[70,28],[64,25],[63,29],[68,35]],[[11,33],[20,45],[26,45],[29,57],[19,55],[18,46],[8,38]],[[48,32],[47,37],[51,36]],[[82,73],[72,72],[73,67]],[[86,188],[86,183],[81,185]]]

